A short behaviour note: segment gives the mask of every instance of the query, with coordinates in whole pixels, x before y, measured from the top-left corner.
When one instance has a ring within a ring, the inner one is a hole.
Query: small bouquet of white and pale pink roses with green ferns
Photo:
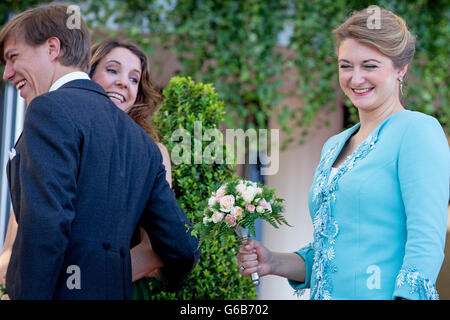
[[[201,213],[203,222],[191,230],[193,236],[199,236],[199,243],[206,238],[216,238],[236,233],[243,244],[248,235],[256,236],[255,221],[263,219],[273,227],[288,225],[282,216],[283,199],[275,197],[275,190],[248,180],[234,179],[224,183],[208,199]],[[257,285],[258,275],[252,274]]]

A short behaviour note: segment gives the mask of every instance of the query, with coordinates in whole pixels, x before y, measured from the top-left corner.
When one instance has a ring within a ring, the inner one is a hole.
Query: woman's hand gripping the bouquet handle
[[[274,255],[259,241],[249,240],[245,245],[241,245],[237,259],[239,267],[244,267],[244,270],[241,269],[243,276],[249,277],[253,272],[258,272],[258,275],[262,277],[272,272],[271,263],[273,263]]]

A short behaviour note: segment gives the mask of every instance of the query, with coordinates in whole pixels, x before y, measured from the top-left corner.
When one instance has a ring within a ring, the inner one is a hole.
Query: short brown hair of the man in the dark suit
[[[11,19],[0,31],[0,61],[5,64],[5,42],[10,37],[24,40],[30,46],[39,46],[56,37],[61,43],[59,62],[64,66],[78,67],[88,72],[91,36],[84,20],[68,27],[72,18],[67,5],[51,5],[28,9]]]

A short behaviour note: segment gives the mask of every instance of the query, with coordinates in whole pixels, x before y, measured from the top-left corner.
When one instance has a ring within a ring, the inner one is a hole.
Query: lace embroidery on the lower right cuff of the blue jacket
[[[400,270],[397,276],[396,286],[400,288],[405,284],[411,287],[410,294],[416,292],[419,294],[419,299],[439,300],[436,285],[431,280],[422,277],[414,267],[406,267]]]

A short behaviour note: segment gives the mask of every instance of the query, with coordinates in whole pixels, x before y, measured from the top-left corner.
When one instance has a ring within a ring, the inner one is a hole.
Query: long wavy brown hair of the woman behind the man
[[[139,81],[136,101],[133,106],[127,110],[127,113],[154,141],[159,141],[158,132],[152,126],[151,121],[153,115],[159,108],[161,94],[153,88],[147,55],[142,49],[134,42],[120,38],[106,39],[100,43],[94,44],[91,49],[92,58],[89,75],[92,77],[95,74],[99,62],[114,48],[128,49],[141,61],[142,74],[141,80]]]

